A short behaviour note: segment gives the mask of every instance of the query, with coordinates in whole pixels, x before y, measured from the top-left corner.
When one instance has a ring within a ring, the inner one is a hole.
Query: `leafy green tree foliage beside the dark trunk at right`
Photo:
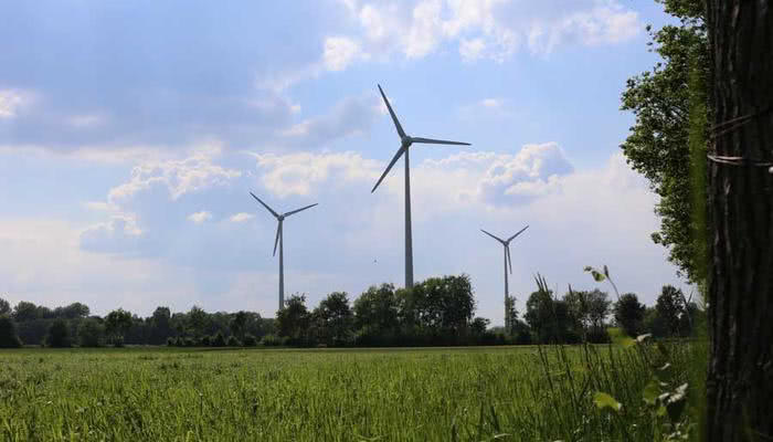
[[[709,120],[709,50],[702,0],[656,0],[680,19],[650,32],[661,56],[649,72],[628,78],[622,109],[636,123],[621,146],[627,162],[660,197],[660,230],[653,241],[669,249],[669,261],[692,282],[706,277],[706,227],[701,186]],[[691,185],[695,182],[696,185]]]

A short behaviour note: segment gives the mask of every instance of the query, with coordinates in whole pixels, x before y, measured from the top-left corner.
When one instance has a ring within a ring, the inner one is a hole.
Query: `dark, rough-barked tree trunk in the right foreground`
[[[711,160],[708,169],[706,430],[709,441],[773,441],[773,173],[748,162],[773,161],[773,4],[707,7],[713,155],[743,159]]]

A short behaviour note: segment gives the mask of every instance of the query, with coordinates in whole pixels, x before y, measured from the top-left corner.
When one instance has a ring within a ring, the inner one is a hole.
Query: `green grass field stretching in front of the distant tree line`
[[[0,439],[652,441],[649,378],[642,351],[611,346],[7,350]]]

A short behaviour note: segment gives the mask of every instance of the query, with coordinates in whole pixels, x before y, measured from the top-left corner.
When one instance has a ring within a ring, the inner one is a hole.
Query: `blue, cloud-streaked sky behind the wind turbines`
[[[523,311],[539,272],[653,304],[686,287],[650,240],[656,196],[620,144],[626,78],[657,61],[653,1],[3,2],[0,296],[274,316],[286,295],[404,282],[411,147],[415,280],[469,275],[504,322],[501,245]],[[614,297],[614,295],[613,295]]]

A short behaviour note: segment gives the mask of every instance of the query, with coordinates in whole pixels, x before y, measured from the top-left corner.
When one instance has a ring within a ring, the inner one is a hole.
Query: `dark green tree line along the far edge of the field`
[[[158,307],[140,317],[118,308],[105,317],[73,303],[49,308],[19,302],[11,308],[0,298],[0,346],[100,347],[170,346],[454,346],[504,344],[607,343],[607,328],[628,336],[684,337],[699,329],[698,306],[670,285],[655,306],[633,293],[613,303],[606,292],[572,291],[562,297],[540,288],[528,297],[526,312],[510,304],[510,329],[490,327],[476,317],[476,301],[467,275],[431,277],[412,290],[393,284],[371,286],[353,302],[333,292],[310,309],[306,296],[290,296],[276,318],[255,312],[208,313],[193,306],[184,313]]]

